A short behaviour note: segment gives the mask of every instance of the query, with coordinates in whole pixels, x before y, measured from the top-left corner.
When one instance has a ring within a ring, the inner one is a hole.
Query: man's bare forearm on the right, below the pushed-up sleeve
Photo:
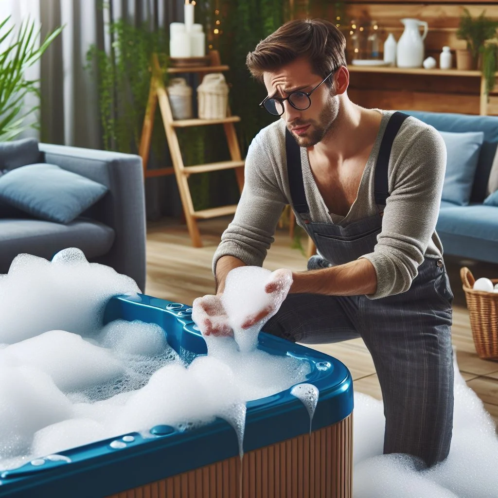
[[[374,294],[377,275],[373,264],[365,258],[320,270],[294,271],[292,293],[355,296]]]

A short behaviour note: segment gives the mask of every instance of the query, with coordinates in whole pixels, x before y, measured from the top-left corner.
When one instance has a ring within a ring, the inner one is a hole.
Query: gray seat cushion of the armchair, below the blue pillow
[[[77,219],[67,225],[41,220],[0,220],[0,273],[6,273],[19,253],[51,259],[59,250],[75,247],[87,259],[106,254],[114,230],[103,223]]]

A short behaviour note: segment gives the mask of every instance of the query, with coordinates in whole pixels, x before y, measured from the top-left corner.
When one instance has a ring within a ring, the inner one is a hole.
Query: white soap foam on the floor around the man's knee
[[[456,355],[453,437],[448,458],[431,468],[404,454],[382,455],[383,404],[355,392],[355,498],[494,498],[498,490],[495,423],[462,378]]]

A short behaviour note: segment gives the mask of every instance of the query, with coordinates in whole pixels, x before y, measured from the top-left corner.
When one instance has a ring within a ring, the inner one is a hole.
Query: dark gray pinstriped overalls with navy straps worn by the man
[[[353,261],[373,252],[382,228],[392,142],[406,115],[394,113],[374,171],[374,216],[347,226],[309,221],[300,148],[286,130],[287,170],[294,211],[320,255],[308,269]],[[322,257],[323,256],[323,257]],[[379,299],[365,295],[289,294],[265,332],[307,344],[362,337],[382,389],[384,453],[408,453],[432,465],[448,456],[453,425],[453,294],[440,258],[425,257],[408,291]]]

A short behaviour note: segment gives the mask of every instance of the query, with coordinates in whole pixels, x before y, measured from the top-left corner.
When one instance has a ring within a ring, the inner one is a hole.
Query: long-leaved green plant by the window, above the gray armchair
[[[36,127],[24,125],[24,118],[38,106],[25,110],[23,101],[29,93],[39,96],[38,80],[27,80],[24,73],[62,30],[55,29],[38,43],[40,31],[35,31],[34,21],[23,22],[14,36],[14,26],[7,24],[9,19],[0,22],[0,43],[12,35],[12,41],[0,52],[0,141],[11,140],[29,126]]]

